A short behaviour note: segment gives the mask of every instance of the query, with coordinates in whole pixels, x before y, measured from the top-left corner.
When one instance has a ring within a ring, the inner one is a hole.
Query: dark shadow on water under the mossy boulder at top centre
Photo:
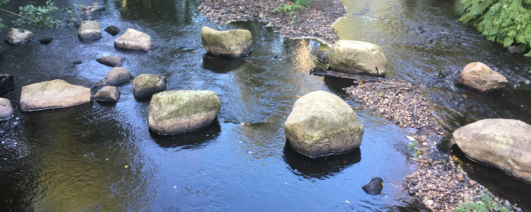
[[[214,71],[214,73],[228,73],[238,69],[243,64],[245,64],[245,60],[241,58],[219,57],[210,53],[206,53],[202,57],[202,68]]]

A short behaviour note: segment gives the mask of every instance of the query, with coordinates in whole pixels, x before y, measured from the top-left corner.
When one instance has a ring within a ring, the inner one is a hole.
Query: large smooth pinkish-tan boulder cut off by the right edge
[[[514,119],[483,119],[454,131],[470,158],[531,182],[531,125]]]

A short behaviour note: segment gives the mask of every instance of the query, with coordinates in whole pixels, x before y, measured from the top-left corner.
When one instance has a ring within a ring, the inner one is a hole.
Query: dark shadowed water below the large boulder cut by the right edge
[[[507,196],[506,199],[512,204],[517,204],[523,209],[531,208],[531,198],[528,194],[531,191],[531,184],[520,179],[510,177],[495,167],[476,163],[465,155],[457,144],[450,148],[452,154],[459,158],[459,164],[470,179],[474,179],[490,192],[497,196]]]

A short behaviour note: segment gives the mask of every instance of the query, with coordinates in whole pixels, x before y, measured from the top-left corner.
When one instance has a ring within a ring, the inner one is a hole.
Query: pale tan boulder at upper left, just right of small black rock
[[[123,35],[116,37],[114,40],[114,47],[118,49],[139,50],[147,52],[153,47],[152,37],[146,33],[127,29]]]

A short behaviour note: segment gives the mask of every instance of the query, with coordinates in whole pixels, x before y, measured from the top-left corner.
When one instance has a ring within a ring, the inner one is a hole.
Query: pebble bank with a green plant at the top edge
[[[261,20],[277,27],[287,37],[317,37],[325,42],[338,40],[336,30],[331,25],[345,13],[340,0],[316,0],[308,8],[299,8],[295,13],[273,12],[292,1],[207,1],[199,0],[199,11],[216,23],[229,23],[232,20]],[[295,16],[295,18],[293,18]]]

